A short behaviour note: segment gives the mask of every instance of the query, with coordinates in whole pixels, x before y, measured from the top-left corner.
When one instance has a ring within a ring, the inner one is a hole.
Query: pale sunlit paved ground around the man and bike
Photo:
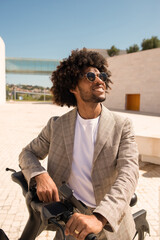
[[[28,212],[19,186],[10,179],[6,167],[19,170],[18,155],[21,149],[43,128],[51,116],[61,115],[68,108],[51,104],[7,103],[0,105],[0,228],[10,240],[17,240],[27,221]],[[124,114],[124,113],[120,113]],[[125,113],[126,114],[126,113]],[[136,134],[159,135],[160,117],[127,114],[133,119]],[[151,128],[153,126],[153,128]],[[43,163],[46,165],[46,160]],[[139,201],[133,212],[147,210],[151,236],[160,239],[160,166],[141,163],[136,193]],[[52,239],[54,233],[44,232],[37,240]],[[118,240],[118,239],[117,239]]]

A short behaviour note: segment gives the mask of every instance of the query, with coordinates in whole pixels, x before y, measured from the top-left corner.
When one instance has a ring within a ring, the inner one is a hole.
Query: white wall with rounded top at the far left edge
[[[6,102],[5,44],[0,37],[0,104]]]

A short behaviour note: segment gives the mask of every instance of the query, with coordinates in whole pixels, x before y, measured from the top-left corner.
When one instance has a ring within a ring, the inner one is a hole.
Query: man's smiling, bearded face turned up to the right
[[[93,72],[96,75],[95,81],[90,82],[87,79],[86,73]],[[106,99],[106,85],[98,77],[99,70],[94,67],[86,68],[84,76],[78,81],[73,93],[77,99],[77,103],[90,102],[90,103],[99,103],[103,102]]]

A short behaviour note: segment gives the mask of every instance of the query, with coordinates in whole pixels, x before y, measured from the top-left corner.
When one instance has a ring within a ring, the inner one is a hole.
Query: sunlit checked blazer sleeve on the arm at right
[[[122,128],[116,161],[117,178],[94,212],[104,216],[106,230],[117,231],[129,207],[139,176],[138,150],[132,122],[126,119]]]

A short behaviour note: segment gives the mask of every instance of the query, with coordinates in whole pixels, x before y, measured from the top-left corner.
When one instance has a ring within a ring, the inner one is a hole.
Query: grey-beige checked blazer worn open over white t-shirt
[[[48,155],[48,173],[57,187],[67,182],[71,172],[77,109],[55,120],[51,118],[41,133],[21,152],[20,167],[28,183],[46,171],[40,164]],[[131,121],[102,105],[95,143],[92,184],[96,199],[94,212],[109,222],[108,240],[132,240],[135,225],[129,207],[138,179],[138,151]]]

